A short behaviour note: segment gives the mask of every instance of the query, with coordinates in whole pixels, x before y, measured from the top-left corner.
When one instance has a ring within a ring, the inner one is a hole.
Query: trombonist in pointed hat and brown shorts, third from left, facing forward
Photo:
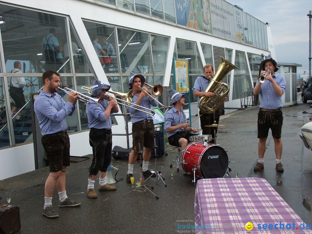
[[[149,90],[144,87],[141,88],[145,83],[145,78],[143,75],[135,75],[133,72],[130,73],[129,79],[129,89],[133,89],[133,100],[132,103],[136,105],[140,105],[142,107],[151,108],[152,106],[157,106],[156,100],[152,96],[148,96],[147,93],[150,94]],[[142,91],[142,90],[145,90]],[[136,107],[134,105],[130,105]],[[151,149],[154,146],[154,123],[152,114],[147,114],[146,112],[140,110],[146,110],[141,107],[139,110],[127,107],[127,110],[130,112],[130,118],[132,122],[132,151],[129,155],[129,164],[128,164],[128,174],[127,174],[127,183],[131,183],[130,177],[133,176],[133,167],[134,163],[138,157],[139,151],[139,140],[140,147],[143,149],[143,165],[142,172],[145,176],[151,176],[153,173],[148,169],[149,159],[151,157]],[[156,174],[153,175],[153,177]]]

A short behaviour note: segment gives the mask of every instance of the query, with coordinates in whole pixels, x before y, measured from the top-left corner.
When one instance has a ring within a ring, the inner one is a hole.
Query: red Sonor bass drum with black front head
[[[201,142],[190,143],[182,153],[182,168],[195,177],[210,179],[222,178],[227,172],[228,157],[225,150],[218,145]]]

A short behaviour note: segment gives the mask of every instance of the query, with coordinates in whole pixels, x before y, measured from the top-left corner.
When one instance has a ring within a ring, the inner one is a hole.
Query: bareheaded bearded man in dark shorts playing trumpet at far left
[[[58,217],[52,207],[52,195],[55,186],[60,198],[59,207],[75,207],[75,202],[66,195],[66,167],[70,164],[70,142],[67,134],[66,116],[72,115],[76,109],[79,95],[72,90],[68,93],[68,102],[56,92],[60,86],[60,74],[47,70],[42,74],[43,89],[34,102],[42,139],[41,143],[49,160],[50,174],[44,187],[44,207],[42,214],[48,218]]]

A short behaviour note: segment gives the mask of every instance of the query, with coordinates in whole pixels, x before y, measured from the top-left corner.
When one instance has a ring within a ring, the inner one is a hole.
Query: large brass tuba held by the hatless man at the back
[[[199,100],[198,107],[202,113],[211,114],[217,110],[222,99],[226,97],[229,92],[229,86],[220,81],[227,75],[227,73],[229,73],[229,71],[235,68],[237,67],[221,57],[220,66],[205,90],[205,92],[212,92],[215,95],[213,97],[203,96]]]

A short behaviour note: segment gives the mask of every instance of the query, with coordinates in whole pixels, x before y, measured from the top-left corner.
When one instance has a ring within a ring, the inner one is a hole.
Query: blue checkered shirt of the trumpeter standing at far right
[[[274,73],[272,78],[275,80],[276,84],[280,86],[284,94],[286,89],[285,77]],[[259,80],[257,80],[257,83],[258,82]],[[276,109],[283,106],[282,97],[275,93],[273,85],[270,81],[266,80],[261,84],[259,94],[260,94],[260,108]]]

